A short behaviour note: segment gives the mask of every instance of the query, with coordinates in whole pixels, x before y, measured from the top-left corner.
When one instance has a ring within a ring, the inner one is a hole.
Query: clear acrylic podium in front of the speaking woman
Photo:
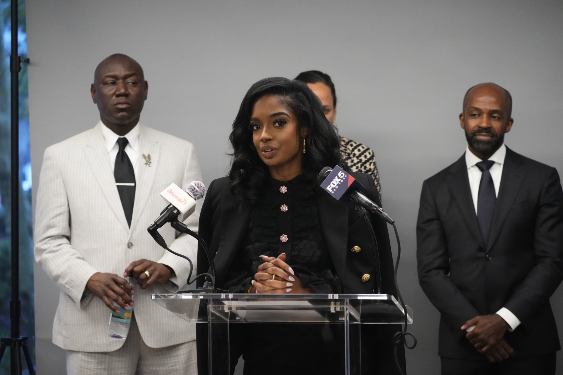
[[[157,304],[191,323],[207,323],[209,374],[228,375],[229,325],[342,324],[345,374],[359,373],[360,324],[401,324],[405,315],[387,294],[153,294]],[[406,306],[407,321],[413,311]]]

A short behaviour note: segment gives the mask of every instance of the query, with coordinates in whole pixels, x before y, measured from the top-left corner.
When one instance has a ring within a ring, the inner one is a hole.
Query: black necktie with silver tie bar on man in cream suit
[[[115,156],[113,175],[127,224],[131,227],[133,202],[135,202],[135,170],[133,170],[133,164],[131,164],[131,160],[129,160],[129,156],[127,156],[125,152],[127,142],[127,138],[124,137],[118,138],[117,140],[119,151],[117,152],[117,156]]]

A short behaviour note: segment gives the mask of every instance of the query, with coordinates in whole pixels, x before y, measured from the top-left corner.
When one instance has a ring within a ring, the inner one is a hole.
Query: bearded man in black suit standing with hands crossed
[[[506,89],[470,88],[467,150],[422,186],[418,277],[441,313],[443,374],[555,374],[563,193],[555,168],[504,146],[511,110]]]

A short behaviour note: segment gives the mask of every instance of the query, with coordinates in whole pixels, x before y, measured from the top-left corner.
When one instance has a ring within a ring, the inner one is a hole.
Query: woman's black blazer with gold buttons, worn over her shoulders
[[[351,173],[364,187],[365,194],[377,204],[379,201],[376,186],[373,178],[363,173]],[[233,259],[237,255],[244,235],[251,220],[252,205],[241,204],[231,195],[230,182],[227,178],[213,180],[209,184],[207,196],[202,206],[202,213],[199,216],[199,235],[208,243],[209,251],[215,255],[214,262],[217,272],[216,286],[221,288],[225,282],[225,277],[229,273],[229,268],[233,264]],[[343,293],[373,293],[375,277],[375,256],[372,239],[368,228],[354,209],[348,210],[341,202],[330,197],[327,192],[321,191],[317,197],[319,221],[323,231],[327,247],[332,257],[336,274],[340,279]],[[381,281],[382,293],[396,296],[393,259],[391,246],[387,232],[387,224],[376,216],[371,217],[372,226],[376,233],[377,245],[379,247],[379,258],[381,262]],[[359,246],[361,251],[354,253],[350,249]],[[207,257],[201,247],[198,250],[198,274],[211,272]],[[364,274],[370,274],[368,282],[362,282]],[[200,286],[203,281],[200,281]],[[200,326],[203,326],[200,324]],[[382,364],[377,364],[380,368],[388,365],[390,368],[382,370],[381,373],[394,373],[393,349],[391,337],[394,332],[400,330],[400,326],[383,327],[380,324],[370,324],[370,328],[362,328],[362,341],[364,350],[367,350],[368,357],[375,356],[373,351],[378,351],[383,355]],[[381,326],[380,338],[375,337],[375,333],[370,334],[369,330],[376,331]],[[207,326],[205,326],[207,327]],[[207,373],[206,349],[207,346],[200,345],[206,342],[207,332],[205,327],[198,328],[198,366],[201,373]],[[387,329],[387,330],[386,330]],[[388,332],[387,332],[388,331]],[[382,337],[384,336],[384,337]],[[371,345],[371,346],[370,346]],[[367,349],[366,349],[367,348]],[[404,368],[404,348],[399,348],[399,361]],[[363,364],[365,367],[365,364]]]

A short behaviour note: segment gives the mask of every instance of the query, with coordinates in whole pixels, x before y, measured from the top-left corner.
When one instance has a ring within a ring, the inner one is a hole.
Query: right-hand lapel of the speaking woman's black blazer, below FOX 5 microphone
[[[341,202],[321,191],[317,197],[321,229],[338,277],[346,274],[346,245],[348,242],[348,209]]]

